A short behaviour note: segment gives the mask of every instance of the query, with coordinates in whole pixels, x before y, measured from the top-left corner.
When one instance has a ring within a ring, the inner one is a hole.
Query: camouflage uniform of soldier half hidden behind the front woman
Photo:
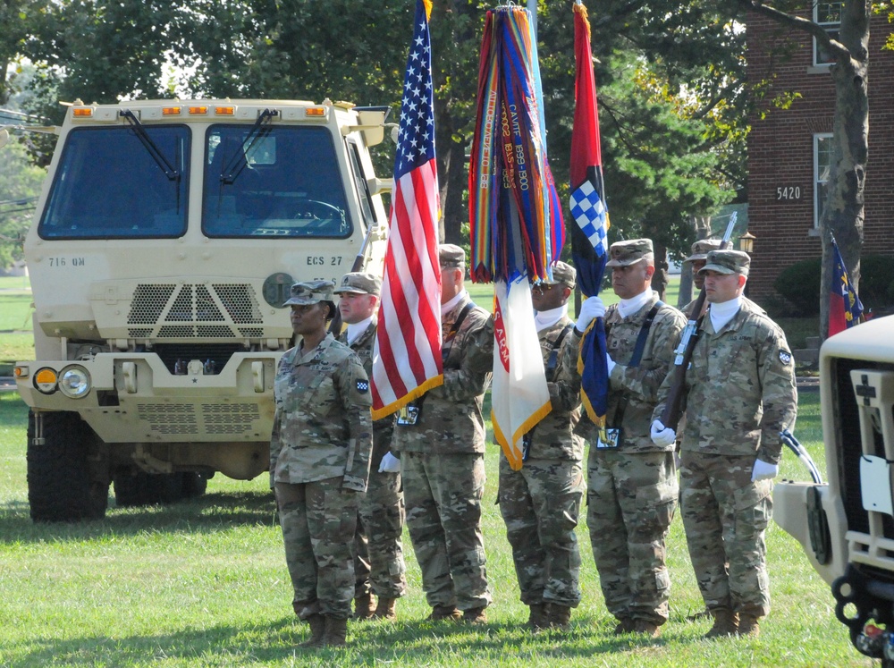
[[[348,333],[339,341],[347,344]],[[375,318],[350,344],[363,362],[367,376],[373,368]],[[372,589],[380,598],[400,598],[407,591],[407,567],[403,561],[403,521],[405,517],[400,473],[379,473],[379,464],[391,449],[392,418],[373,423],[373,453],[367,494],[360,499],[357,532],[354,536],[354,597]]]

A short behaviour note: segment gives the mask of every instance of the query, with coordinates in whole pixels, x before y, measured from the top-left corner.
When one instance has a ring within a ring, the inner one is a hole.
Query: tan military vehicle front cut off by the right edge
[[[820,349],[828,483],[782,481],[773,516],[831,585],[864,655],[894,667],[894,316]]]

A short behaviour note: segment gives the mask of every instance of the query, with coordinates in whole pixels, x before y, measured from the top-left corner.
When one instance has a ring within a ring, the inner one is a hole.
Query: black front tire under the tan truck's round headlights
[[[43,414],[44,443],[34,444],[35,416],[28,413],[28,503],[31,520],[101,520],[108,506],[108,478],[91,467],[97,435],[77,413]],[[104,479],[97,479],[104,478]],[[104,484],[105,483],[105,484]]]

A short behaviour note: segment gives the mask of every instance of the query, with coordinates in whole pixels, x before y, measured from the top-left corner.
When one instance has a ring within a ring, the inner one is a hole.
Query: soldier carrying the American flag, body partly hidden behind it
[[[482,623],[491,593],[481,532],[481,410],[493,369],[493,330],[487,311],[465,290],[463,249],[446,244],[439,255],[443,385],[401,410],[392,450],[401,453],[407,527],[432,606],[429,619]]]

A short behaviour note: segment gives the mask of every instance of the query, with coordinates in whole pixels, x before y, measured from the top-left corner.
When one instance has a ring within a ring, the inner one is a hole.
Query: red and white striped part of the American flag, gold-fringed
[[[373,353],[373,419],[443,384],[434,159],[395,183]]]

